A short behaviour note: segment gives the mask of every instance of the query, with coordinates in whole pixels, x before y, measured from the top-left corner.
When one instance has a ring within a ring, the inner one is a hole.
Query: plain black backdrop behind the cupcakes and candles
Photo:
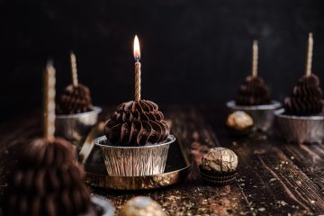
[[[49,57],[61,92],[71,80],[70,49],[94,104],[133,99],[135,34],[144,99],[225,103],[250,72],[258,39],[259,74],[282,100],[304,72],[309,31],[313,72],[324,78],[323,10],[323,0],[0,1],[0,119],[40,109]]]

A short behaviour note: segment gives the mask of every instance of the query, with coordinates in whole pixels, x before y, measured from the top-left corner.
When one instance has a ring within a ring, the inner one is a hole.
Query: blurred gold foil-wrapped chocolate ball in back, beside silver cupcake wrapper
[[[237,111],[229,114],[226,125],[233,130],[247,130],[252,127],[254,121],[247,112]]]

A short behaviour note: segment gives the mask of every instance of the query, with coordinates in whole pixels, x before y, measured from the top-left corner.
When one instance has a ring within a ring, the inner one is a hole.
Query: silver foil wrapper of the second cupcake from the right
[[[275,119],[275,110],[281,107],[281,103],[273,101],[271,104],[265,105],[252,105],[252,106],[242,106],[237,105],[235,101],[229,101],[226,103],[231,111],[244,111],[247,112],[255,122],[255,128],[258,130],[269,130]]]

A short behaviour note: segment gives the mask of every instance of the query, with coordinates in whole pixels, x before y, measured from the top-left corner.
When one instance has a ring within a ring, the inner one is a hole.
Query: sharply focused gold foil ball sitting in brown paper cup
[[[238,156],[229,148],[211,148],[202,156],[202,168],[218,172],[236,170]]]

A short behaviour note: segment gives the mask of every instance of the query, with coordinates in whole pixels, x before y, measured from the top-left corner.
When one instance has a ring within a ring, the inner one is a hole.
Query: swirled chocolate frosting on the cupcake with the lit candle
[[[104,128],[112,144],[144,146],[166,140],[170,128],[156,103],[140,100],[121,103]]]

